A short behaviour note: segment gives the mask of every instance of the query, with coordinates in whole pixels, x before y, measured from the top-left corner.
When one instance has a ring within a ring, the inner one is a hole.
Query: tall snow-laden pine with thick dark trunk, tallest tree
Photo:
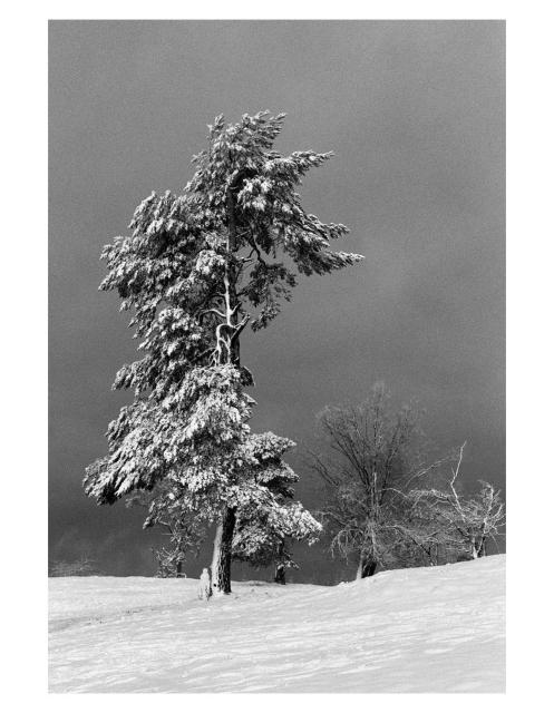
[[[231,590],[237,511],[281,511],[266,482],[289,475],[282,439],[250,432],[240,335],[266,326],[291,297],[294,271],[324,274],[360,255],[331,250],[348,229],[307,213],[297,192],[331,154],[282,156],[273,144],[284,115],[223,117],[181,195],[152,194],[135,211],[132,234],[104,248],[108,274],[144,356],[124,365],[115,389],[134,390],[107,431],[108,453],[88,467],[86,492],[110,504],[161,480],[181,488],[186,509],[217,522],[215,593]],[[290,508],[292,519],[304,512]],[[304,516],[308,521],[308,515]],[[313,520],[313,518],[312,518]],[[311,524],[317,529],[315,521]]]

